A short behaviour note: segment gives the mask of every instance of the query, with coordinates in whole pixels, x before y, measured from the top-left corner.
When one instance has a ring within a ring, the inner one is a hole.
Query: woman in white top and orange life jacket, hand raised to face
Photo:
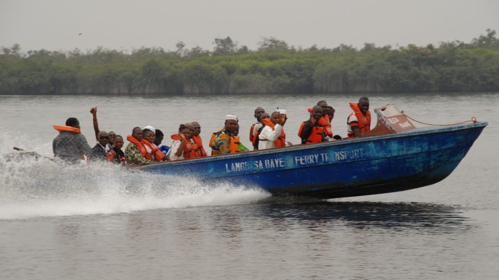
[[[195,158],[198,156],[197,146],[191,141],[193,134],[186,125],[180,125],[179,133],[171,138],[174,140],[170,149],[170,160]]]

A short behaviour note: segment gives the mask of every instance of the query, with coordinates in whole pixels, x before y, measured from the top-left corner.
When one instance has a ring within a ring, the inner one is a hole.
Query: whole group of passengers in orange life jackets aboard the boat
[[[362,137],[370,131],[371,113],[369,99],[361,97],[358,103],[350,103],[353,112],[347,118],[348,138]],[[331,121],[335,110],[325,101],[308,109],[310,118],[304,121],[298,131],[302,144],[341,140],[333,135]],[[80,159],[87,162],[109,161],[115,164],[141,165],[165,160],[179,160],[207,156],[201,139],[201,125],[198,122],[180,125],[178,134],[171,136],[171,146],[161,145],[163,132],[151,126],[136,127],[126,139],[130,142],[125,151],[123,137],[114,132],[99,130],[97,107],[90,109],[97,143],[91,148],[80,132],[80,123],[76,118],[66,120],[65,126],[54,126],[59,135],[53,140],[54,157],[68,163],[78,163]],[[291,145],[286,141],[284,124],[286,111],[275,110],[266,113],[261,107],[254,110],[256,123],[250,127],[250,142],[253,150],[285,147]],[[209,140],[211,155],[229,154],[249,149],[241,142],[239,136],[239,120],[235,115],[227,115],[225,126],[214,132]]]

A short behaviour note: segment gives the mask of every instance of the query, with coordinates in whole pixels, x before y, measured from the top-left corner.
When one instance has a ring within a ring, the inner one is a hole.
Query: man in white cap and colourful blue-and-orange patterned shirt
[[[235,143],[234,140],[231,139],[231,136],[235,135],[238,128],[238,117],[227,115],[225,117],[225,127],[218,132],[214,132],[210,139],[212,155],[235,153],[239,151],[239,143]]]

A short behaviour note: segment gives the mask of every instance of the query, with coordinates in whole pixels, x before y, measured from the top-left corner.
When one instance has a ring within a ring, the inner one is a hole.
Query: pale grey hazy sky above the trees
[[[217,37],[257,48],[426,45],[499,32],[499,0],[0,0],[0,46],[212,50]],[[81,35],[78,35],[82,33]]]

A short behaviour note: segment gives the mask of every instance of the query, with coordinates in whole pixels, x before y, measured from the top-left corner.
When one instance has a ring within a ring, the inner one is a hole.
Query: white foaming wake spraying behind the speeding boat
[[[68,166],[45,157],[0,156],[0,170],[0,219],[247,204],[270,196],[249,186],[207,185],[108,163]]]

